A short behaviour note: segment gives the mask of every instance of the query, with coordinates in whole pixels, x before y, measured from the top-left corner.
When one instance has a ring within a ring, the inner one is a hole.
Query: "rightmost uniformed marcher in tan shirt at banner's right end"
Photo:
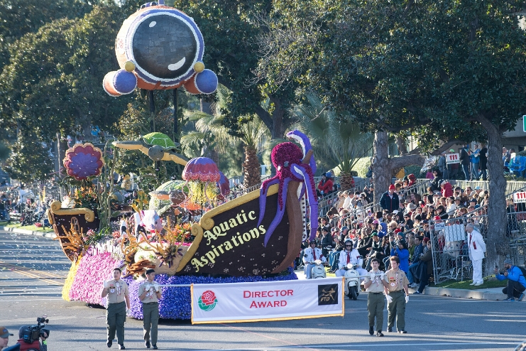
[[[409,302],[409,288],[407,276],[399,269],[400,259],[397,256],[389,258],[391,269],[385,272],[385,298],[387,299],[388,324],[387,331],[393,331],[395,325],[398,333],[405,334],[405,304]]]

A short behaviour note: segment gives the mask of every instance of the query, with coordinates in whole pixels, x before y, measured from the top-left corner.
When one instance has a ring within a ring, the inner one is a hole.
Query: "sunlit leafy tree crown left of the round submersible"
[[[41,141],[57,132],[89,135],[92,124],[111,129],[130,101],[102,89],[106,72],[118,67],[114,40],[122,16],[116,6],[95,6],[83,18],[47,23],[11,43],[0,75],[1,125]]]

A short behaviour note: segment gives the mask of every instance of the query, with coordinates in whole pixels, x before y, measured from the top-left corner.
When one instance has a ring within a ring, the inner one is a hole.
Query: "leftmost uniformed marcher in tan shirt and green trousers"
[[[106,345],[111,347],[117,333],[117,342],[119,350],[125,350],[124,347],[124,322],[126,314],[130,311],[130,296],[128,284],[121,280],[121,269],[114,269],[114,279],[104,281],[104,288],[101,296],[108,296],[108,307],[106,308],[106,325],[108,328],[108,340]]]

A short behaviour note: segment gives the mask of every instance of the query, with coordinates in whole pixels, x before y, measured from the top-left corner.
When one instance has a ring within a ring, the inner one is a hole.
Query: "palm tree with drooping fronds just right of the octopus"
[[[307,92],[305,97],[307,104],[292,109],[298,127],[311,139],[318,160],[322,158],[330,168],[339,169],[341,188],[350,189],[351,171],[358,159],[371,151],[373,136],[362,133],[352,116],[339,118],[314,92]]]

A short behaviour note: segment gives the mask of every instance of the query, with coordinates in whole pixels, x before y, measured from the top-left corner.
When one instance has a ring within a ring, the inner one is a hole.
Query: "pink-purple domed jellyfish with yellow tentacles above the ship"
[[[221,174],[216,163],[207,157],[192,158],[182,171],[182,179],[187,181],[188,199],[185,202],[194,202],[203,205],[205,202],[212,205],[217,195],[217,182]]]

